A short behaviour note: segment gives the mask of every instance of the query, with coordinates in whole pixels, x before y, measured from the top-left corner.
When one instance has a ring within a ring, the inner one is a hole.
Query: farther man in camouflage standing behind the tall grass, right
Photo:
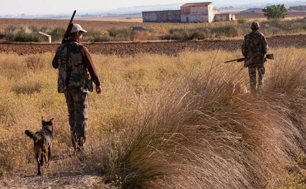
[[[241,47],[243,56],[245,57],[244,66],[249,69],[251,90],[256,90],[256,70],[258,72],[259,88],[263,86],[263,76],[265,73],[264,62],[266,61],[265,54],[269,49],[265,36],[260,33],[259,24],[253,22],[251,25],[252,31],[244,36],[244,41]]]

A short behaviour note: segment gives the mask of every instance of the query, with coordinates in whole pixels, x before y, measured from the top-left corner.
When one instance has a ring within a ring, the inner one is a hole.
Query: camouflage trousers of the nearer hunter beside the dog
[[[69,113],[72,145],[75,152],[82,151],[88,130],[87,93],[77,90],[66,90],[64,94]]]

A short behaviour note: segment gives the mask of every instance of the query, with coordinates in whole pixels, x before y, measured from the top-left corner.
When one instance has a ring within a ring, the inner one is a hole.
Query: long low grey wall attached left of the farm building
[[[142,12],[143,22],[180,22],[180,10]]]

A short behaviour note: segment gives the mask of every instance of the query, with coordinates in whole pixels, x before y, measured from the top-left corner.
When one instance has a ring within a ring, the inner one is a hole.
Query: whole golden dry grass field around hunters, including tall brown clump
[[[306,50],[272,51],[260,94],[244,93],[241,63],[223,63],[240,52],[94,54],[103,92],[89,95],[86,161],[68,157],[52,54],[0,54],[0,188],[67,188],[81,175],[103,188],[105,174],[121,189],[305,189]],[[41,116],[55,119],[54,157],[37,177],[24,131]]]

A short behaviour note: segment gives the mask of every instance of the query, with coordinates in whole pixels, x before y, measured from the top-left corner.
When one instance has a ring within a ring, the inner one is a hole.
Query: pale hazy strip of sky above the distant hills
[[[77,12],[99,11],[138,5],[171,4],[196,2],[199,0],[0,0],[0,15],[5,14],[63,14]],[[205,0],[204,0],[205,1]],[[228,5],[228,0],[208,0],[218,4]],[[267,0],[256,0],[256,2]],[[277,0],[268,0],[277,1]],[[247,3],[245,0],[232,0],[233,5]]]

